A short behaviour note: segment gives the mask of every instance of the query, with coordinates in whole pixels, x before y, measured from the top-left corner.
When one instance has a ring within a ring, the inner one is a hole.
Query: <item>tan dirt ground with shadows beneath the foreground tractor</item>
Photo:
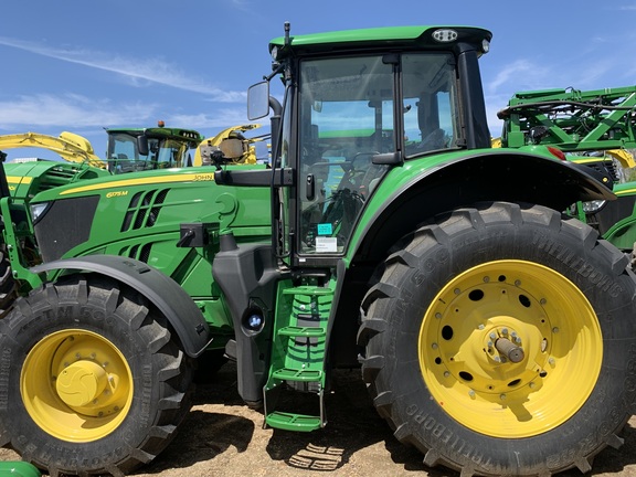
[[[329,424],[312,433],[263,428],[263,415],[242,404],[235,369],[199,384],[194,406],[170,446],[136,477],[459,477],[431,469],[422,455],[393,438],[375,414],[359,371],[338,371],[327,398]],[[623,431],[625,445],[595,459],[592,476],[636,477],[636,416]],[[0,460],[19,458],[0,449]],[[577,470],[560,477],[581,476]],[[4,477],[4,476],[0,476]]]

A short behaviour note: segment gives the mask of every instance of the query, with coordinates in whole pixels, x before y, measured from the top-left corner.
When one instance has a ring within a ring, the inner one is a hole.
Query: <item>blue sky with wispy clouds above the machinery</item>
[[[594,6],[594,7],[592,7]],[[489,127],[516,91],[636,84],[636,0],[20,0],[0,28],[0,135],[246,123],[245,92],[271,72],[268,41],[353,28],[463,24],[494,39],[481,61]],[[257,134],[256,130],[254,134]],[[7,150],[9,158],[46,157]]]

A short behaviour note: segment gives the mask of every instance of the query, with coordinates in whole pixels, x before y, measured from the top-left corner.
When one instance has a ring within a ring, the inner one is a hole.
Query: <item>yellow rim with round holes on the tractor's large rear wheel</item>
[[[504,438],[556,427],[601,371],[596,315],[563,275],[523,261],[453,278],[420,329],[420,365],[437,403],[470,430]]]

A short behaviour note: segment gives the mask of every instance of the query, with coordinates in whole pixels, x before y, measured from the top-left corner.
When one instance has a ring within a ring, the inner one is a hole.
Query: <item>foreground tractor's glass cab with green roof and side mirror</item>
[[[394,39],[385,47],[360,47],[374,41],[364,30],[354,40],[286,35],[269,45],[271,77],[280,73],[285,84],[283,120],[273,124],[279,130],[274,168],[294,177],[292,188],[274,193],[273,210],[280,212],[275,246],[295,266],[333,265],[347,253],[362,210],[391,168],[490,146],[477,64],[490,33],[384,33]],[[250,119],[275,102],[268,88],[268,81],[251,88]]]

